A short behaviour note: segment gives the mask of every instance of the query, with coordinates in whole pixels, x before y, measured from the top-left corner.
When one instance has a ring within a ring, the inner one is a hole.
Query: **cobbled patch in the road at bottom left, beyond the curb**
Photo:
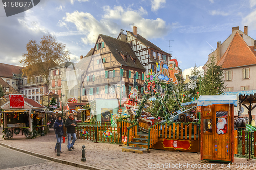
[[[62,163],[57,163],[57,162],[46,162],[46,163],[39,163],[39,164],[34,164],[34,165],[29,165],[29,166],[22,166],[22,167],[13,167],[13,168],[7,168],[8,170],[41,170],[41,169],[45,169],[45,170],[52,170],[52,169],[61,169],[61,170],[78,170],[81,168],[78,167],[73,167],[73,166],[69,166],[69,165],[65,165]],[[3,170],[7,170],[7,169],[3,169]]]

